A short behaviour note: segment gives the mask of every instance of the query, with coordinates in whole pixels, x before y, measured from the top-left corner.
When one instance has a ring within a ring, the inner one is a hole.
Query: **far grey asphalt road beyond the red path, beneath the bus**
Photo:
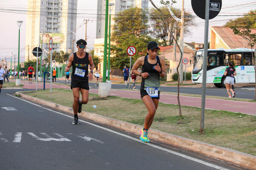
[[[57,80],[59,83],[65,83],[64,80]],[[69,81],[70,83],[70,81]],[[95,83],[90,83],[90,87],[98,88],[98,86],[95,86]],[[113,89],[125,89],[125,85],[122,84],[112,84],[111,88]],[[133,85],[130,85],[130,88],[133,88]],[[140,89],[140,85],[136,85],[137,89]],[[161,91],[166,92],[174,92],[177,93],[177,87],[166,87],[161,86]],[[236,92],[236,98],[242,98],[242,99],[255,99],[255,88],[254,87],[243,87],[243,88],[236,88],[235,85],[235,92]],[[202,88],[189,88],[189,87],[180,87],[180,93],[184,94],[202,94]],[[206,95],[209,96],[222,96],[222,97],[228,97],[226,88],[206,88]]]

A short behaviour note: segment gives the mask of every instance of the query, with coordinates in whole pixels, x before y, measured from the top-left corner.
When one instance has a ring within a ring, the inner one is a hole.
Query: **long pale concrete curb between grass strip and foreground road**
[[[16,92],[15,95],[21,96],[29,101],[36,102],[41,105],[48,106],[50,108],[57,109],[59,111],[67,112],[73,114],[73,108],[59,105],[53,102],[49,102],[43,99],[38,99],[20,92]],[[82,111],[79,113],[81,117],[85,119],[90,119],[95,122],[99,122],[105,125],[109,125],[121,130],[125,130],[131,133],[140,134],[140,130],[143,128],[139,125],[134,125],[132,123],[123,122],[120,120],[108,118],[95,113],[90,113]],[[242,153],[236,150],[232,150],[225,147],[216,146],[213,144],[208,144],[205,142],[196,141],[193,139],[184,138],[177,135],[172,135],[170,133],[161,132],[159,130],[150,129],[148,135],[151,139],[166,144],[171,144],[176,147],[181,147],[186,150],[191,150],[196,153],[200,153],[206,156],[210,156],[215,159],[220,159],[222,161],[227,161],[231,164],[238,165],[240,167],[245,167],[250,170],[256,170],[256,156],[252,156],[247,153]]]

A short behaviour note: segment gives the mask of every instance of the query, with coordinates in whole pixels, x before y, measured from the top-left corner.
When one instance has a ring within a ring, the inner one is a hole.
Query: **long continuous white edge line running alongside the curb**
[[[12,96],[12,95],[10,95],[10,94],[8,94],[8,95],[9,95],[9,96]],[[16,98],[16,99],[20,99],[20,98],[18,98],[18,97],[16,97],[16,96],[12,96],[12,97],[14,97],[14,98]],[[40,108],[44,108],[44,107],[41,106],[41,105],[37,105],[37,104],[35,104],[35,103],[26,101],[26,100],[24,100],[24,99],[20,99],[20,100],[23,100],[24,102],[28,102],[28,103],[30,103],[30,104],[32,104],[32,105],[35,105],[35,106],[38,106],[38,107],[40,107]],[[48,111],[52,111],[52,112],[58,113],[58,114],[61,114],[61,115],[63,115],[63,116],[67,116],[67,117],[73,118],[73,116],[69,116],[69,115],[66,115],[66,114],[64,114],[64,113],[60,113],[60,112],[58,112],[58,111],[53,111],[53,110],[51,110],[51,109],[49,109],[49,108],[44,108],[44,109],[46,109],[46,110],[48,110]],[[128,135],[125,135],[125,134],[116,132],[116,131],[114,131],[114,130],[110,130],[110,129],[108,129],[108,128],[101,127],[101,126],[99,126],[99,125],[95,125],[95,124],[93,124],[93,123],[86,122],[86,121],[84,121],[84,120],[79,120],[79,121],[80,121],[80,122],[87,123],[87,124],[92,125],[92,126],[95,126],[95,127],[98,127],[98,128],[101,128],[101,129],[103,129],[103,130],[107,130],[107,131],[109,131],[109,132],[111,132],[111,133],[115,133],[115,134],[117,134],[117,135],[124,136],[124,137],[126,137],[126,138],[128,138],[128,139],[132,139],[132,140],[134,140],[134,141],[143,143],[142,141],[140,141],[140,139],[137,139],[137,138],[134,138],[134,137],[131,137],[131,136],[128,136]],[[215,169],[217,169],[217,170],[229,170],[229,169],[227,169],[227,168],[220,167],[220,166],[218,166],[218,165],[211,164],[211,163],[209,163],[209,162],[206,162],[206,161],[203,161],[203,160],[200,160],[200,159],[196,159],[196,158],[193,158],[193,157],[191,157],[191,156],[187,156],[187,155],[184,155],[184,154],[181,154],[181,153],[178,153],[178,152],[175,152],[175,151],[172,151],[172,150],[169,150],[169,149],[166,149],[166,148],[164,148],[164,147],[160,147],[160,146],[157,146],[157,145],[154,145],[154,144],[151,144],[151,143],[143,143],[143,144],[147,144],[147,145],[149,145],[149,146],[151,146],[151,147],[155,147],[155,148],[157,148],[157,149],[164,150],[164,151],[166,151],[166,152],[175,154],[175,155],[177,155],[177,156],[181,156],[181,157],[183,157],[183,158],[186,158],[186,159],[189,159],[189,160],[192,160],[192,161],[195,161],[195,162],[204,164],[204,165],[206,165],[206,166],[208,166],[208,167],[213,167],[213,168],[215,168]]]

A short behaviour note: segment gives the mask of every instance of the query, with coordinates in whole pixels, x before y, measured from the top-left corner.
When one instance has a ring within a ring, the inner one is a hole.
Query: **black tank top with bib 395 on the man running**
[[[89,65],[89,53],[85,52],[84,58],[77,57],[74,53],[74,59],[72,63],[71,79],[88,81],[88,65]]]

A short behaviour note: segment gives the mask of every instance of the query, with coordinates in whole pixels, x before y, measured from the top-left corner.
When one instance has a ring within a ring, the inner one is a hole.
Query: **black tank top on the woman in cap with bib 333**
[[[160,87],[160,75],[159,72],[154,69],[155,65],[161,67],[161,62],[159,57],[157,56],[157,62],[155,64],[150,64],[148,62],[148,56],[145,56],[144,64],[142,66],[142,73],[147,72],[150,74],[146,79],[142,78],[140,89],[145,90],[146,88],[159,88]]]

